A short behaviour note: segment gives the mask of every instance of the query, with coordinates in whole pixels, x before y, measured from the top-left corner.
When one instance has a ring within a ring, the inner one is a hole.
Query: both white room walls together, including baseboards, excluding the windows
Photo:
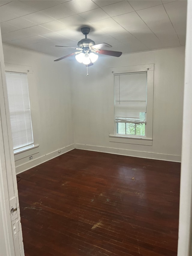
[[[16,173],[58,156],[58,149],[62,154],[74,147],[180,161],[183,47],[100,58],[89,67],[88,76],[85,66],[76,61],[53,62],[54,57],[5,45],[4,59],[33,70],[28,74],[29,94],[35,144],[40,146],[36,154],[29,151],[22,159],[15,155]],[[150,63],[155,63],[153,145],[110,142],[114,96],[109,68]],[[30,161],[29,155],[33,155]]]

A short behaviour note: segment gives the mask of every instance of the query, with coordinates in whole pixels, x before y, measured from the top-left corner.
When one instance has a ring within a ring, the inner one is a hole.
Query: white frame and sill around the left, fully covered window
[[[16,72],[16,73],[26,73],[28,78],[28,89],[29,89],[29,102],[31,106],[31,120],[32,120],[32,132],[33,132],[33,144],[29,146],[24,146],[19,149],[13,150],[15,161],[22,158],[28,157],[29,155],[34,155],[39,153],[39,144],[38,144],[38,131],[37,131],[37,120],[35,120],[35,113],[32,111],[31,97],[30,97],[30,79],[28,74],[32,74],[33,70],[30,66],[17,65],[12,63],[4,63],[5,71]],[[7,98],[8,99],[8,98]],[[10,117],[9,117],[10,119]]]

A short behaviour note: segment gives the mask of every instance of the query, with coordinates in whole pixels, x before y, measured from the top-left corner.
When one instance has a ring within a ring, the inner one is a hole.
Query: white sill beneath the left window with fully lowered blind
[[[13,151],[15,161],[20,160],[22,158],[28,157],[30,155],[34,155],[36,153],[39,153],[39,144],[38,145],[32,145],[27,146],[22,149],[16,149]]]

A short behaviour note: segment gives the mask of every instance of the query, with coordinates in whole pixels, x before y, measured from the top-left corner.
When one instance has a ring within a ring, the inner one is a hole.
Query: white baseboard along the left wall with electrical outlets
[[[75,144],[71,144],[71,145],[68,145],[68,146],[62,148],[60,153],[58,153],[58,150],[55,150],[53,152],[50,152],[49,154],[43,155],[39,158],[35,158],[34,160],[30,160],[25,164],[18,165],[18,166],[15,167],[16,174],[19,174],[19,173],[22,173],[26,170],[29,170],[29,169],[31,169],[31,168],[39,165],[39,164],[42,164],[46,161],[49,161],[52,158],[55,158],[59,155],[65,154],[65,153],[67,153],[67,152],[69,152],[73,149],[75,149]]]

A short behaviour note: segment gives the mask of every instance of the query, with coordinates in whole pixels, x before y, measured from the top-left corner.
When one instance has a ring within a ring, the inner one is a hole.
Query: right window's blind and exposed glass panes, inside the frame
[[[116,134],[145,137],[147,72],[114,74]]]

